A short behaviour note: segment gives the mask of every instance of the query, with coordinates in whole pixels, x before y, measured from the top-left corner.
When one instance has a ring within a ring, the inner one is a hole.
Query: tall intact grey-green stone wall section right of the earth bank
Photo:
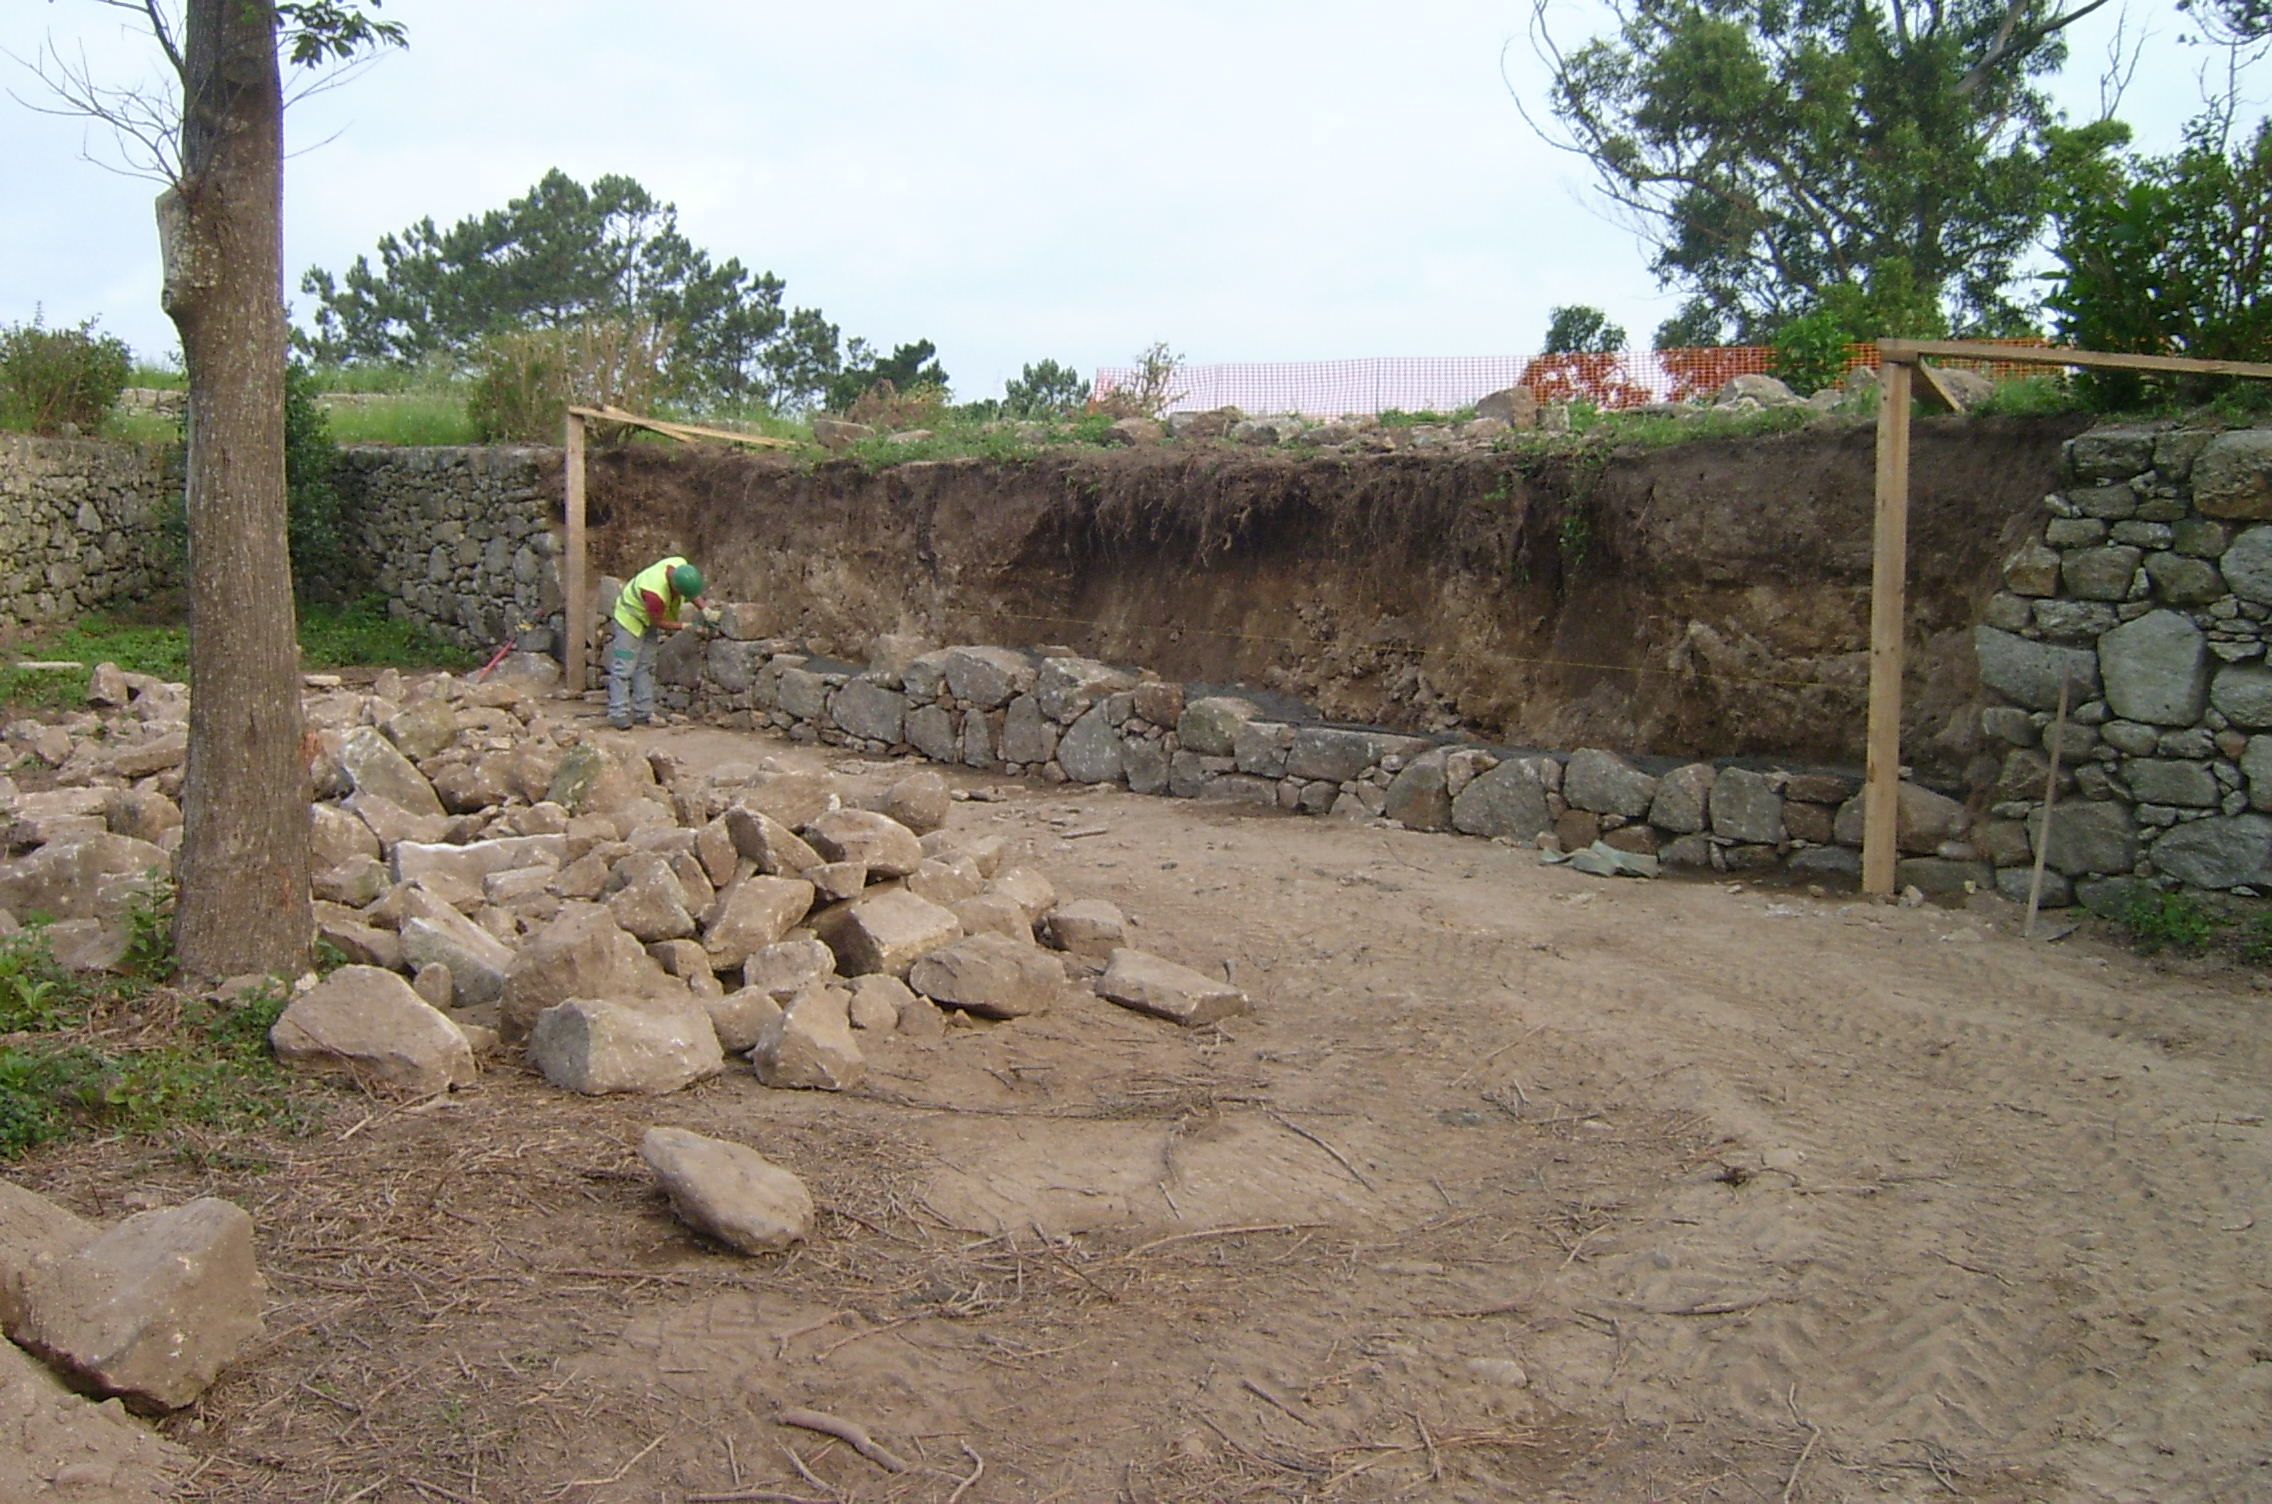
[[[1974,632],[1981,729],[1999,750],[1979,800],[1997,886],[2024,893],[2038,845],[2047,902],[2106,906],[2140,879],[2272,884],[2267,641],[2272,429],[2070,441],[2065,488]]]

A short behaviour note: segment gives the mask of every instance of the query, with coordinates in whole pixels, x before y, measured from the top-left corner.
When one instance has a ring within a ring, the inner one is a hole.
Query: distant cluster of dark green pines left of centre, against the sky
[[[811,393],[813,364],[834,366],[834,325],[784,311],[779,277],[711,261],[673,204],[623,175],[584,186],[554,168],[504,209],[382,236],[377,257],[300,279],[316,298],[314,332],[295,334],[304,354],[416,364],[504,329],[641,318],[675,332],[677,395],[793,404]]]

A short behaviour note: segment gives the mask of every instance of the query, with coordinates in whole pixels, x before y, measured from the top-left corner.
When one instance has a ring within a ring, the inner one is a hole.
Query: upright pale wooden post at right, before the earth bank
[[[1908,361],[1877,386],[1877,532],[1870,545],[1870,768],[1861,793],[1861,891],[1893,893],[1902,809],[1902,623],[1908,577]]]

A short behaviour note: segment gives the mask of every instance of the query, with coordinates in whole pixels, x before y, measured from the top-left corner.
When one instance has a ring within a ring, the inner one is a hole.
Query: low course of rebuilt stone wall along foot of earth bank
[[[1811,879],[1861,870],[1858,779],[1847,772],[1520,752],[1279,720],[1236,695],[1191,697],[1129,668],[1011,647],[886,638],[859,668],[759,636],[759,609],[720,616],[716,634],[663,645],[666,709],[1050,782],[1390,818],[1561,850],[1604,841],[1672,868]],[[1990,884],[1963,832],[1956,800],[1904,784],[1899,881],[1933,893]]]

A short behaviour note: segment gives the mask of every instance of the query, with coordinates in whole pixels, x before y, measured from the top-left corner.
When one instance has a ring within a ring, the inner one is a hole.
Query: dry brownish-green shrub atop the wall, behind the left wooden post
[[[491,334],[473,357],[466,416],[486,443],[552,443],[570,404],[654,411],[670,395],[673,343],[673,329],[648,318]]]

